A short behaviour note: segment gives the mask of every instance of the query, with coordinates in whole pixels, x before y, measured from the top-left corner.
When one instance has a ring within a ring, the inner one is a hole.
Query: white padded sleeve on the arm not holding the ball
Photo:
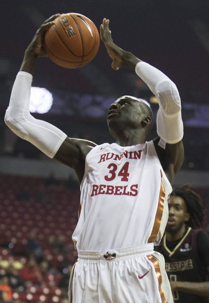
[[[176,85],[157,68],[146,62],[138,62],[136,74],[149,86],[159,102],[157,113],[157,133],[159,145],[175,144],[183,138],[181,100]]]

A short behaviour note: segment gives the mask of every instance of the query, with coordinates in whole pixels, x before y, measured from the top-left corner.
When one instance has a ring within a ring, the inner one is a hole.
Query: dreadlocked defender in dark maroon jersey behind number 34
[[[201,229],[204,221],[201,197],[188,185],[172,191],[168,199],[165,235],[155,250],[165,258],[176,303],[208,303],[209,236]]]

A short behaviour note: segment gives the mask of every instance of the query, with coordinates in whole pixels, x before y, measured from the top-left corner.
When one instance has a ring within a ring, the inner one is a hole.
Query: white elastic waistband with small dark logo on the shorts
[[[136,255],[149,255],[153,253],[154,243],[147,243],[120,249],[102,251],[78,250],[78,260],[83,262],[100,262],[106,260],[122,260]]]

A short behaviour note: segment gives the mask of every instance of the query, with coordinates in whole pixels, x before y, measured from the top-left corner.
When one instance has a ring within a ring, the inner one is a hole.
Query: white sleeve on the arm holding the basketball
[[[67,137],[57,127],[35,119],[29,112],[32,75],[18,72],[5,114],[6,125],[18,135],[53,158]]]

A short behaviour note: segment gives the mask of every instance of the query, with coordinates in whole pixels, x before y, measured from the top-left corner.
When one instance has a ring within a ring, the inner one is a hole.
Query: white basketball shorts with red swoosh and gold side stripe
[[[163,256],[153,243],[109,251],[78,251],[70,303],[173,303]]]

